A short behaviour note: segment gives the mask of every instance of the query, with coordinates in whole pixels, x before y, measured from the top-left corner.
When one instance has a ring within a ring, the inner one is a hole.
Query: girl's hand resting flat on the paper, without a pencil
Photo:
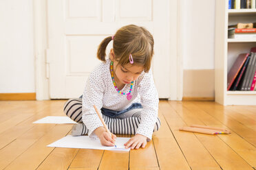
[[[136,134],[134,137],[125,143],[125,148],[131,147],[131,149],[139,149],[140,147],[145,148],[147,145],[147,137],[141,134]]]

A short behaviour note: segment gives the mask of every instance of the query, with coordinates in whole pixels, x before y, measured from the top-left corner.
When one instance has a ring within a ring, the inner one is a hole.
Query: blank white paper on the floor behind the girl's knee
[[[33,123],[54,123],[54,124],[74,124],[75,121],[72,121],[69,117],[44,117],[39,119],[38,121],[34,121]]]

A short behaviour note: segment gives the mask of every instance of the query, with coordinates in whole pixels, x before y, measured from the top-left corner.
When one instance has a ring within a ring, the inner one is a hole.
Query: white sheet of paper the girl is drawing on
[[[47,147],[68,147],[68,148],[82,148],[82,149],[102,149],[102,150],[114,150],[114,151],[129,151],[125,149],[124,144],[129,141],[130,138],[116,138],[116,147],[105,147],[100,144],[99,139],[91,139],[89,136],[71,136],[67,135],[60,140],[47,145]]]

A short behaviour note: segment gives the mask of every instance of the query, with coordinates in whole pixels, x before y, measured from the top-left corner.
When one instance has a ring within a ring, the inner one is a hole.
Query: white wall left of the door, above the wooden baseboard
[[[0,93],[34,93],[32,0],[0,1]]]

